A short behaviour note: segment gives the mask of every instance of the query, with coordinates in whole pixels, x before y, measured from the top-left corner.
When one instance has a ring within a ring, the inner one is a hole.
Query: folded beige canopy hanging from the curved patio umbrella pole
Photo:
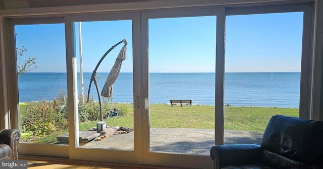
[[[105,98],[112,98],[112,95],[113,95],[112,85],[117,80],[117,78],[119,76],[122,61],[127,59],[126,51],[127,51],[127,46],[125,44],[122,47],[109,75],[107,76],[107,79],[106,79],[103,89],[101,91],[101,96],[103,96]]]

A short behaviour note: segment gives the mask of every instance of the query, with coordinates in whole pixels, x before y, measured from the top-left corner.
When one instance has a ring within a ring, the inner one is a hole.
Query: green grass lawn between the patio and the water
[[[39,103],[28,103],[27,107]],[[129,110],[127,116],[105,119],[107,126],[133,128],[133,104],[122,104]],[[118,104],[115,105],[118,107]],[[24,115],[24,107],[21,114]],[[276,114],[298,116],[298,109],[263,107],[225,107],[225,129],[237,131],[263,132],[268,120]],[[151,128],[200,128],[214,129],[214,106],[183,106],[163,104],[150,105]],[[80,130],[96,127],[97,121],[79,123]],[[56,136],[66,131],[44,137],[36,142],[55,143]]]

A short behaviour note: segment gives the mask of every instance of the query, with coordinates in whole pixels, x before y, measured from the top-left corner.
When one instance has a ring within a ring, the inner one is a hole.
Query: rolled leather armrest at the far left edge
[[[20,131],[18,129],[5,129],[0,131],[0,143],[8,144],[13,153],[13,160],[18,159],[18,140]]]

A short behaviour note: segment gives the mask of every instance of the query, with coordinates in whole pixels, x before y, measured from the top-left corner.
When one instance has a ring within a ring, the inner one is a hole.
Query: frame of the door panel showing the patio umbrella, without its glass
[[[124,157],[127,156],[127,163],[142,163],[142,143],[141,143],[141,113],[140,104],[138,102],[140,98],[140,14],[137,12],[129,13],[114,13],[114,14],[93,14],[93,15],[75,15],[65,17],[66,25],[66,52],[67,52],[67,79],[68,79],[68,103],[69,104],[69,133],[75,133],[70,135],[69,139],[69,157],[71,159],[83,159],[105,162],[120,162],[124,163]],[[76,136],[78,131],[78,114],[74,110],[78,110],[77,103],[77,81],[76,79],[76,56],[73,37],[73,22],[85,22],[85,21],[116,21],[116,20],[132,20],[132,48],[133,48],[133,103],[134,107],[134,150],[133,151],[121,151],[121,150],[109,150],[109,149],[89,149],[78,146],[78,138]],[[76,123],[75,123],[76,122]],[[88,154],[91,154],[90,156]],[[102,155],[104,154],[104,155]],[[107,156],[109,158],[107,158]]]

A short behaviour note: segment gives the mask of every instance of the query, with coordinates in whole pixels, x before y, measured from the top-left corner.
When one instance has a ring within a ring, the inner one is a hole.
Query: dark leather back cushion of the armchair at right
[[[276,115],[268,122],[261,147],[307,164],[318,164],[323,146],[323,122]]]

